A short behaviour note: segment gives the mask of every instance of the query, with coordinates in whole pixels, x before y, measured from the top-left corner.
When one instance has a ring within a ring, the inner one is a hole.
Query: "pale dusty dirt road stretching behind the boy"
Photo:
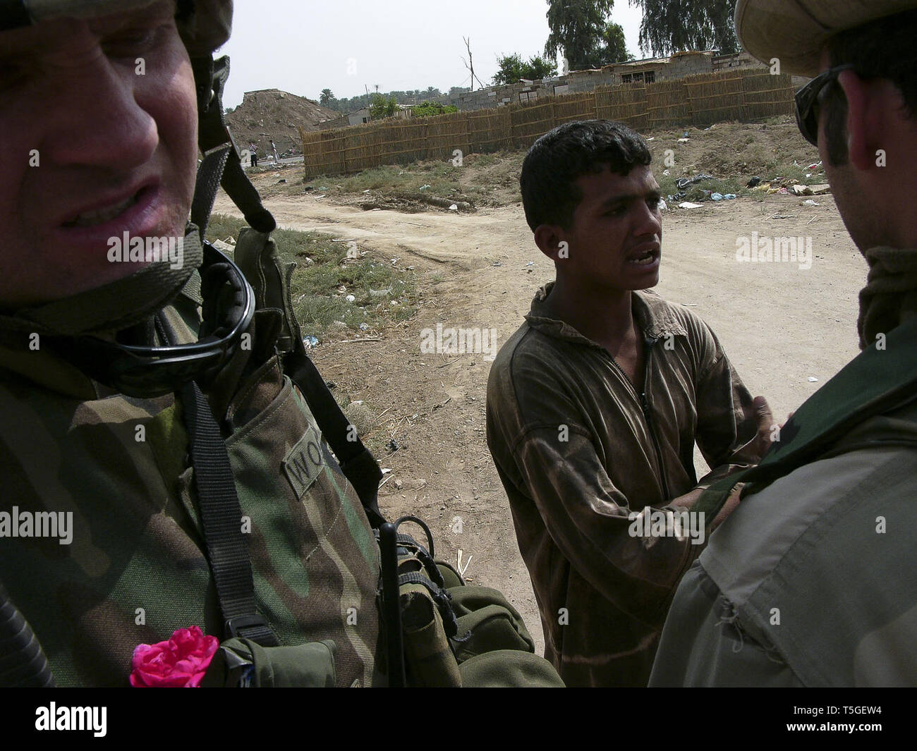
[[[295,172],[286,174],[296,179]],[[713,326],[748,388],[766,395],[781,421],[858,351],[856,293],[865,283],[866,264],[832,197],[816,200],[821,205],[786,195],[739,198],[663,217],[657,292],[691,305]],[[455,563],[460,548],[466,576],[504,591],[540,649],[535,598],[485,441],[491,363],[481,355],[420,351],[421,330],[437,323],[495,328],[498,344],[521,325],[536,288],[553,278],[522,207],[403,214],[309,195],[275,195],[266,205],[281,226],[354,238],[360,249],[383,259],[399,257],[423,275],[430,302],[414,319],[382,332],[378,342],[323,344],[315,361],[326,380],[376,414],[372,443],[394,438],[400,445],[378,457],[392,469],[380,491],[383,512],[424,518],[439,558]],[[223,194],[215,210],[238,214]],[[812,237],[812,268],[737,262],[736,237],[752,231]],[[456,517],[460,533],[453,531]]]

